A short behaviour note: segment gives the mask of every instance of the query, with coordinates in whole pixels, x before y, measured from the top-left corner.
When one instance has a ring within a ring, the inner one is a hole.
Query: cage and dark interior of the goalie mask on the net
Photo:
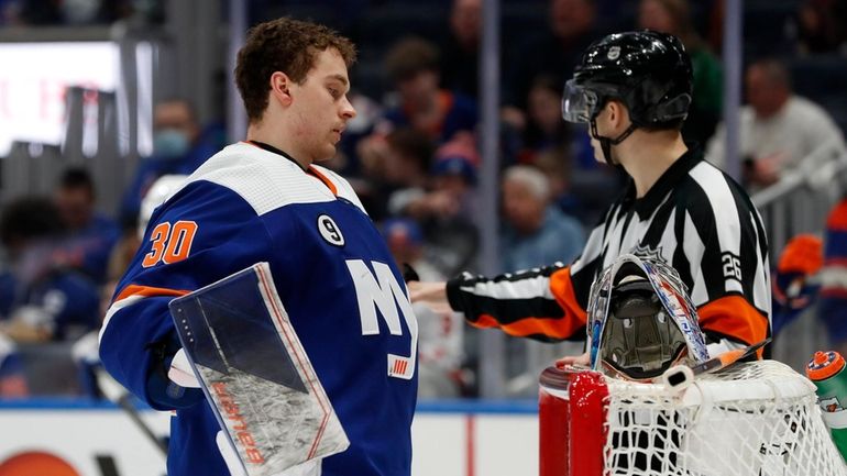
[[[613,290],[600,355],[607,374],[652,379],[686,355],[685,336],[647,279]]]

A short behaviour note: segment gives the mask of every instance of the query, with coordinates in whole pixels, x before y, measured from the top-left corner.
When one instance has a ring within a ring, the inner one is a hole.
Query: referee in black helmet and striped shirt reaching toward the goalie
[[[592,283],[622,254],[672,266],[691,289],[710,354],[770,335],[768,243],[745,190],[682,140],[691,60],[679,38],[637,31],[592,44],[565,84],[562,114],[588,123],[597,160],[629,176],[572,263],[495,278],[410,283],[414,302],[480,328],[556,342],[584,335]],[[563,363],[586,363],[585,355]]]

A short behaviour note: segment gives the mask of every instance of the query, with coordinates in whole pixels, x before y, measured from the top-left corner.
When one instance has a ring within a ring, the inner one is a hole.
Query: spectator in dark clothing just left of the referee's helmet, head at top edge
[[[503,119],[517,128],[526,123],[527,98],[531,81],[550,75],[558,84],[573,75],[582,52],[602,36],[597,32],[595,0],[550,0],[550,30],[517,42],[504,70],[505,107]]]

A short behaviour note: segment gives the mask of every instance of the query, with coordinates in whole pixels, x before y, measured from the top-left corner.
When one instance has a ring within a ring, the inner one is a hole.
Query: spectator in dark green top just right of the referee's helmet
[[[721,120],[723,70],[706,42],[694,29],[688,0],[641,0],[638,26],[670,33],[682,40],[694,69],[693,102],[682,128],[688,142],[705,143]]]

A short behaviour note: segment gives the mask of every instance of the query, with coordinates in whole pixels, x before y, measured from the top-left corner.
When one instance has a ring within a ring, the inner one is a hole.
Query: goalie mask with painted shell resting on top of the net
[[[688,289],[663,263],[618,257],[592,286],[588,319],[591,367],[606,375],[650,380],[708,359]]]

